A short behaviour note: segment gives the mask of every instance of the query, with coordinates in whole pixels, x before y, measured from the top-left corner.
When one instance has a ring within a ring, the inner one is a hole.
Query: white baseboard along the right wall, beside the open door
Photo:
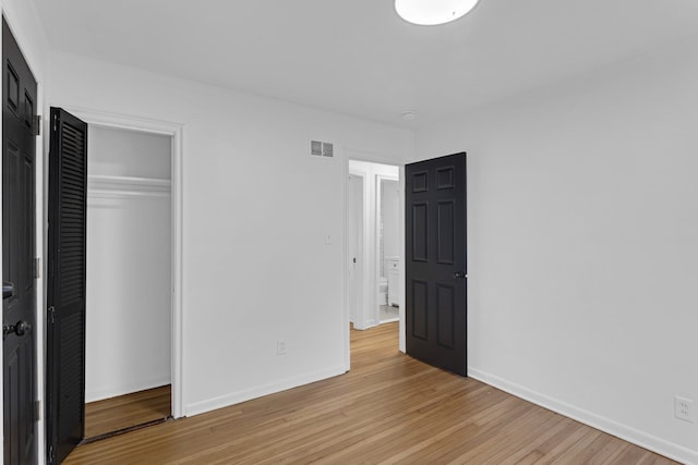
[[[613,435],[633,444],[657,452],[676,462],[685,464],[698,464],[698,451],[694,451],[683,445],[675,444],[664,439],[640,431],[627,425],[619,424],[611,418],[585,411],[557,399],[550,397],[515,382],[507,381],[497,376],[490,375],[477,368],[468,367],[468,376],[501,389],[512,395],[529,401],[541,407],[583,423],[592,428]]]

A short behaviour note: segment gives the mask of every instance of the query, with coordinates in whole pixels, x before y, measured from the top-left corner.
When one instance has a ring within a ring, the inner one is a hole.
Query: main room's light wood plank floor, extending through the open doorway
[[[77,464],[674,464],[351,331],[347,375],[79,446]]]

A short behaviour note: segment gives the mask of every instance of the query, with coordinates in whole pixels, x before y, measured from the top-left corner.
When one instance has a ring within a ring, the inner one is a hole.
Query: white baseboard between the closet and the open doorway
[[[229,407],[230,405],[239,404],[241,402],[251,401],[252,399],[263,397],[269,394],[276,394],[277,392],[287,391],[289,389],[298,388],[299,386],[310,384],[311,382],[322,381],[323,379],[333,378],[335,376],[344,375],[347,370],[345,367],[336,367],[322,371],[314,371],[285,380],[265,384],[258,388],[249,389],[245,391],[232,392],[230,394],[220,395],[218,397],[209,399],[207,401],[194,402],[188,404],[184,407],[184,415],[192,416],[212,412],[218,408]]]

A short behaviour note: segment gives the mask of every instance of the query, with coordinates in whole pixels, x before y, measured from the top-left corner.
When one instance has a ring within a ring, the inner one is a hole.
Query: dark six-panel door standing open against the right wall
[[[467,376],[466,154],[405,174],[407,353]]]

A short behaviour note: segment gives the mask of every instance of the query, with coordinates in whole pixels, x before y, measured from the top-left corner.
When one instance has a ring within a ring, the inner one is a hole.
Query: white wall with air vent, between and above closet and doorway
[[[52,59],[52,105],[183,124],[184,414],[344,372],[345,152],[400,163],[411,132]],[[336,143],[335,158],[311,157],[311,138]],[[276,355],[278,339],[287,355]]]

